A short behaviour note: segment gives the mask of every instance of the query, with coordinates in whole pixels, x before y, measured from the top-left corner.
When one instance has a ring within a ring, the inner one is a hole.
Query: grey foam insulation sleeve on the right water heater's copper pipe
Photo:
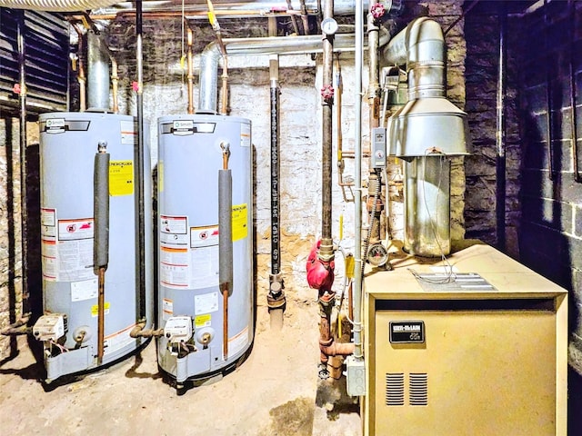
[[[230,170],[218,171],[218,282],[233,288],[233,178]]]

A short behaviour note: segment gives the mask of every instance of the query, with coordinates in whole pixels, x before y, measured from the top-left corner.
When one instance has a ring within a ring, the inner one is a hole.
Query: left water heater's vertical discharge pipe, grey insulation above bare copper
[[[93,262],[97,272],[97,364],[100,365],[105,351],[105,270],[109,263],[109,154],[105,142],[98,144],[93,174]]]

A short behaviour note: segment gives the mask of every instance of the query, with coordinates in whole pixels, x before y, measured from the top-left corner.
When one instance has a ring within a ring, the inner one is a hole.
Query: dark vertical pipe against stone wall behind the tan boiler
[[[496,217],[497,248],[506,247],[506,113],[507,95],[507,6],[502,2],[499,10],[499,64],[497,69],[497,135],[496,135]]]

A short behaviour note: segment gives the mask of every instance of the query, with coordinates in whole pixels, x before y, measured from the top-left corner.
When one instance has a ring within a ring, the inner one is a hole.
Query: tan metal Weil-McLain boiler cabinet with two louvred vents
[[[365,279],[364,434],[566,435],[567,291],[480,243],[395,256]]]

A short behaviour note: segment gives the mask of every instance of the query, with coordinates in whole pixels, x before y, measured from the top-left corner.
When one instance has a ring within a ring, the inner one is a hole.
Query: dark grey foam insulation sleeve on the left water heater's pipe
[[[101,268],[109,263],[109,154],[95,154],[94,173],[95,248],[94,263]]]

